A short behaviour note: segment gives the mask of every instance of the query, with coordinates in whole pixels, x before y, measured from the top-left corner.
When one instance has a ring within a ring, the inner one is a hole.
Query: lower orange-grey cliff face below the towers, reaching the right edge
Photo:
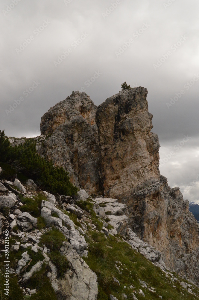
[[[145,182],[136,187],[128,207],[129,226],[161,251],[167,268],[198,282],[199,224],[179,187],[171,189],[164,176],[159,182]]]

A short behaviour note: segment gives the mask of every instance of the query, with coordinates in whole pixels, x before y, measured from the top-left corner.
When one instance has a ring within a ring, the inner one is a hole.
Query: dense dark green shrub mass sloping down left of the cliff
[[[4,131],[0,131],[0,162],[10,164],[16,173],[31,177],[51,193],[72,196],[78,191],[70,182],[68,172],[62,167],[54,167],[52,161],[45,160],[37,153],[34,139],[12,147]]]

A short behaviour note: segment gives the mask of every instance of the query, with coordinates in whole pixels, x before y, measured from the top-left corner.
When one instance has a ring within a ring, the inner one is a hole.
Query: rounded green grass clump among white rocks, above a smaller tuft
[[[59,251],[64,241],[67,240],[63,233],[59,229],[52,228],[52,230],[42,235],[39,245],[44,244],[51,251]]]

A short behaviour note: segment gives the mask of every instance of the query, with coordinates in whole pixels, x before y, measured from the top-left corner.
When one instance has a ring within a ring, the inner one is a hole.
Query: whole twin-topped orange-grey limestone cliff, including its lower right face
[[[179,188],[159,173],[147,93],[131,88],[98,107],[85,93],[73,93],[41,118],[38,152],[87,193],[125,203],[130,228],[161,251],[170,270],[198,283],[199,227]]]

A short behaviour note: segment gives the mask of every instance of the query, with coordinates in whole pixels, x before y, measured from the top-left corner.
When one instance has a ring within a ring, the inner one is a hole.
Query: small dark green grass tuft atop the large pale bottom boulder
[[[69,269],[69,262],[66,256],[61,255],[59,251],[52,251],[49,257],[51,262],[54,263],[57,268],[58,276],[63,277]]]

